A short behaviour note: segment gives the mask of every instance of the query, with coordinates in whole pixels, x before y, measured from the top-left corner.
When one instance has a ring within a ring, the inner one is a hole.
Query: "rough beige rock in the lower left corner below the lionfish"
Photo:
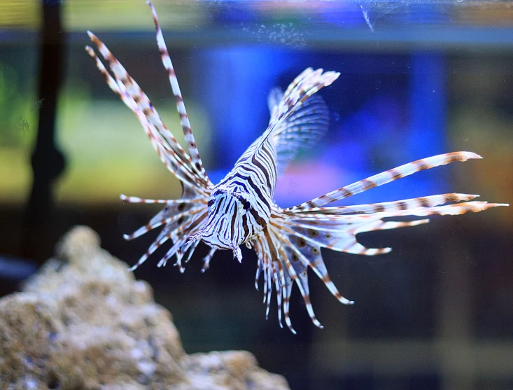
[[[0,300],[0,389],[282,390],[247,351],[185,354],[145,281],[78,226]]]

